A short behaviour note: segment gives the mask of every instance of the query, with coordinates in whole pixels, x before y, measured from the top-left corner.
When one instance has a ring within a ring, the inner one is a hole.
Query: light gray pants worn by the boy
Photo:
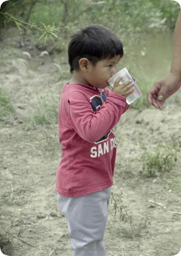
[[[66,197],[57,193],[65,215],[74,256],[106,256],[106,228],[111,187],[85,196]]]

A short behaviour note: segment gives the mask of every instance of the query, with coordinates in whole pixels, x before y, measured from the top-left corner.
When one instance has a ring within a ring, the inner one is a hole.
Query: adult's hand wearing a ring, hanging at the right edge
[[[147,92],[147,100],[155,108],[163,109],[164,101],[176,92],[181,86],[181,77],[174,73],[169,73],[160,81],[155,83]]]

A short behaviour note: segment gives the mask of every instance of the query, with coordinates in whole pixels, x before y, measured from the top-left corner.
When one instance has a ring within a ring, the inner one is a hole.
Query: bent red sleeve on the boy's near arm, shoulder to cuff
[[[90,100],[83,92],[69,92],[68,104],[69,124],[82,139],[90,143],[109,132],[127,108],[126,99],[111,91],[97,112],[93,111]]]

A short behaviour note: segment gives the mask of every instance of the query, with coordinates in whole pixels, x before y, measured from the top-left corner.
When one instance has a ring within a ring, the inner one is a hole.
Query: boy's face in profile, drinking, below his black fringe
[[[88,71],[86,73],[85,80],[94,87],[105,88],[109,84],[107,81],[109,78],[117,73],[117,63],[120,60],[120,55],[116,55],[114,58],[108,60],[99,60],[96,66],[89,64]]]

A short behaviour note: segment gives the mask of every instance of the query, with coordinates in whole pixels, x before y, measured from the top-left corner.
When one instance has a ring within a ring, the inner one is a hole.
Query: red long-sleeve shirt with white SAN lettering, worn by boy
[[[56,190],[83,196],[113,185],[116,139],[112,128],[129,108],[107,87],[64,84],[59,106],[59,141],[63,145]]]

